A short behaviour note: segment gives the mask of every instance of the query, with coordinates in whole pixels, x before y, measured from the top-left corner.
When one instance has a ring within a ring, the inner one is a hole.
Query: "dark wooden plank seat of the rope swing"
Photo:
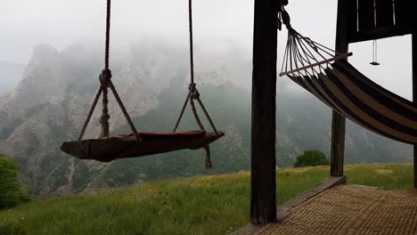
[[[139,134],[142,142],[136,142],[135,134],[121,134],[102,139],[63,142],[61,150],[80,159],[110,162],[175,150],[197,150],[225,135],[223,132],[215,134],[205,131]]]

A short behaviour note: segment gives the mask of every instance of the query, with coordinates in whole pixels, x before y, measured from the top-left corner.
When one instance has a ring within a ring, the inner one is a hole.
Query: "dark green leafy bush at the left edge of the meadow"
[[[0,210],[15,207],[30,200],[29,193],[17,180],[18,167],[12,159],[0,154]]]

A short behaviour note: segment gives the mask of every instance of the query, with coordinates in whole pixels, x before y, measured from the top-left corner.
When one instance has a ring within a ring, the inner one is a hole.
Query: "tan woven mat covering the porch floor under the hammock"
[[[417,191],[337,186],[256,234],[417,234]]]

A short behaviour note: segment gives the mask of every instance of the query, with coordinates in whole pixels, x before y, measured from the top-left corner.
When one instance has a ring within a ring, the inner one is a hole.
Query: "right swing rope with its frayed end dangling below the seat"
[[[214,133],[217,134],[216,126],[213,123],[213,120],[210,118],[207,109],[204,107],[203,102],[200,99],[200,93],[196,88],[196,84],[194,83],[194,54],[193,54],[193,39],[192,39],[192,0],[188,1],[188,23],[189,23],[189,35],[190,35],[190,85],[188,85],[188,93],[185,97],[183,108],[181,109],[180,115],[176,120],[176,126],[174,127],[174,132],[178,128],[183,116],[184,110],[187,107],[188,102],[190,102],[190,106],[192,108],[192,115],[194,116],[197,125],[200,127],[200,130],[205,131],[204,126],[201,123],[200,116],[195,108],[194,101],[197,101],[200,105],[200,108],[203,110],[206,118],[208,119],[208,123],[210,124],[211,128],[213,129]],[[203,147],[206,150],[206,168],[211,168],[211,159],[210,159],[210,150],[208,145]]]

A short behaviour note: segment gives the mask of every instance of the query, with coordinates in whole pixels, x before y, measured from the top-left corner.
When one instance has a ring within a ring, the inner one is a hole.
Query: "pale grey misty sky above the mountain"
[[[0,60],[27,63],[34,45],[49,44],[59,50],[78,39],[103,40],[105,0],[1,0]],[[238,45],[250,58],[253,0],[194,0],[196,46]],[[336,0],[290,0],[293,28],[330,47],[334,46]],[[143,36],[167,42],[188,43],[187,0],[113,0],[111,43],[128,44]],[[286,32],[278,38],[279,55]],[[412,97],[411,36],[379,40],[379,67],[372,67],[372,42],[351,45],[349,59],[375,82]],[[197,61],[198,62],[198,61]],[[280,63],[280,61],[279,61]],[[285,78],[281,78],[285,79]]]

